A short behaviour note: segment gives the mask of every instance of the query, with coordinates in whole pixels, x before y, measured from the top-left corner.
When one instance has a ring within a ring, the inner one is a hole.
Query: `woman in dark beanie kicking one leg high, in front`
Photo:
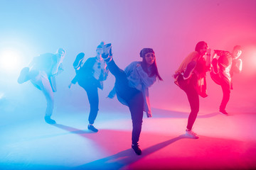
[[[156,78],[162,80],[156,67],[154,50],[144,48],[140,52],[142,62],[132,62],[124,71],[117,67],[112,58],[110,44],[103,47],[103,59],[107,62],[110,72],[115,77],[114,91],[120,103],[129,107],[132,115],[132,149],[138,155],[142,154],[139,148],[139,135],[142,130],[143,111],[147,117],[152,117],[149,103],[149,87]],[[112,98],[114,91],[109,96]]]

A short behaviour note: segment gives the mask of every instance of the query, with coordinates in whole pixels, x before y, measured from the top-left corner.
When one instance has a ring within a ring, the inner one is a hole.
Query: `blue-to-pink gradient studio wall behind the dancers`
[[[41,107],[46,103],[41,91],[29,82],[19,85],[16,79],[34,56],[55,52],[58,47],[65,48],[66,56],[63,62],[65,72],[57,77],[56,107],[87,106],[87,96],[80,86],[68,89],[75,75],[72,64],[79,52],[85,52],[86,58],[95,57],[95,48],[102,40],[112,43],[114,60],[122,69],[132,61],[141,60],[139,52],[143,47],[152,47],[164,81],[156,82],[149,89],[151,107],[187,112],[190,108],[186,94],[171,77],[183,58],[201,40],[208,42],[211,49],[219,50],[232,51],[234,45],[242,45],[243,69],[241,74],[234,76],[234,90],[227,111],[256,111],[254,0],[1,0],[0,21],[0,106],[1,113],[3,110],[9,112],[8,115],[11,113],[12,119],[18,116],[14,115],[19,113],[16,110]],[[6,51],[14,55],[4,55]],[[207,81],[209,96],[201,98],[200,112],[217,112],[222,91],[209,74]],[[105,99],[113,84],[114,77],[110,74],[104,91],[100,91],[101,108],[105,104],[114,106],[113,102],[117,102],[116,99]],[[6,122],[3,118],[1,121]]]

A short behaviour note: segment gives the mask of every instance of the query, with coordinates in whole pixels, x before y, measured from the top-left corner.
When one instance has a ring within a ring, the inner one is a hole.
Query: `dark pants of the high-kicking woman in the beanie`
[[[132,144],[136,145],[142,131],[144,107],[142,91],[129,86],[126,74],[122,69],[117,67],[117,64],[115,64],[113,60],[107,63],[107,67],[116,79],[114,87],[117,91],[117,95],[121,97],[129,107],[132,116]]]

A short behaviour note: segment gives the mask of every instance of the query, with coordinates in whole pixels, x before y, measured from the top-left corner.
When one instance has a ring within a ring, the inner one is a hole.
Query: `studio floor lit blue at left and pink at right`
[[[100,110],[97,133],[87,130],[87,111],[57,109],[56,125],[32,112],[2,123],[0,169],[256,169],[255,113],[199,113],[194,140],[184,135],[188,113],[153,108],[138,156],[126,107]]]

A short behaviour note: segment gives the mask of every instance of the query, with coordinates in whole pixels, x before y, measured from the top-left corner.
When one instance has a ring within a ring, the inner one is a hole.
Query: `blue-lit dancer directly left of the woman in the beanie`
[[[87,128],[93,132],[99,131],[93,125],[99,111],[99,94],[97,89],[103,89],[103,81],[107,79],[109,72],[106,62],[102,60],[102,45],[104,44],[105,42],[101,42],[97,46],[96,57],[88,58],[84,64],[82,64],[82,60],[85,54],[82,52],[78,54],[73,63],[76,75],[68,86],[71,88],[72,84],[78,82],[79,86],[85,89],[90,103],[89,125]]]

